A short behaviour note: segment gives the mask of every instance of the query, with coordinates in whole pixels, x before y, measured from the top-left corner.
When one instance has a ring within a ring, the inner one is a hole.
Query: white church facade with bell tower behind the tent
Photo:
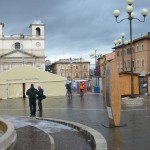
[[[0,73],[21,65],[45,70],[45,25],[34,21],[29,26],[29,35],[14,33],[3,35],[4,24],[0,23]]]

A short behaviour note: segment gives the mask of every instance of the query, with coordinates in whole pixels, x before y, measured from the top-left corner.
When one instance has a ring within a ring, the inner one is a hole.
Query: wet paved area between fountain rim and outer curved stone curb
[[[17,143],[14,150],[92,150],[90,143],[77,130],[48,120],[3,116],[15,126]],[[51,138],[49,138],[51,136]]]

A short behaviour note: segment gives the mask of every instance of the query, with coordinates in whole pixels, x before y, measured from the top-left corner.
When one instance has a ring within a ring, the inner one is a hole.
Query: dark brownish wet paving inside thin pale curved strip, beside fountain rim
[[[51,143],[47,134],[33,126],[17,128],[17,143],[14,150],[49,150]],[[29,134],[30,133],[30,134]],[[39,139],[39,140],[37,140]]]

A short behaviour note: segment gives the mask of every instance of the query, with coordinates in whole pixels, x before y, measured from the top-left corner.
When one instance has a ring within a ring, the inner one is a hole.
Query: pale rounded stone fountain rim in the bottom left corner
[[[0,130],[4,132],[4,134],[0,137],[0,149],[12,150],[17,141],[17,133],[14,125],[0,118]]]

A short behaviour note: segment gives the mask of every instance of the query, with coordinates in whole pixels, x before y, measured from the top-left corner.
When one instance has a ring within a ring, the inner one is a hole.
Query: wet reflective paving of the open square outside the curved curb
[[[0,115],[29,116],[28,105],[28,99],[0,100]],[[148,96],[144,96],[142,106],[122,107],[121,122],[127,124],[126,127],[105,128],[102,126],[108,123],[108,116],[100,94],[87,94],[83,98],[73,95],[72,100],[66,97],[48,97],[43,101],[43,113],[37,112],[36,116],[64,119],[89,126],[105,137],[108,150],[150,149],[150,97]],[[62,131],[63,136],[60,137],[67,135],[65,132]],[[55,136],[59,137],[57,134]],[[68,134],[68,137],[71,136]],[[73,144],[74,141],[71,143]]]

